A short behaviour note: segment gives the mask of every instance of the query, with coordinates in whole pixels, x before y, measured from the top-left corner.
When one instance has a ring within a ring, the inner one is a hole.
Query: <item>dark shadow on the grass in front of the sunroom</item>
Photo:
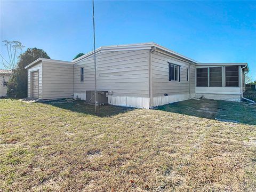
[[[159,106],[158,110],[209,119],[217,118],[220,121],[256,125],[256,105],[250,105],[246,102],[190,99]]]

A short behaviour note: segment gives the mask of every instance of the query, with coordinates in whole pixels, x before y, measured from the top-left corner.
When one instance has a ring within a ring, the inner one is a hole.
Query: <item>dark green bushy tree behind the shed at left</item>
[[[28,75],[25,67],[38,58],[51,59],[45,51],[37,48],[28,48],[20,54],[17,66],[14,69],[14,77],[7,85],[7,94],[15,98],[27,97]]]

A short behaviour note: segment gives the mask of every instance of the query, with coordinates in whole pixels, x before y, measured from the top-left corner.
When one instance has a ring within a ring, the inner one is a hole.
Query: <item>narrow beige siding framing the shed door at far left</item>
[[[34,65],[33,67],[28,69],[28,97],[32,97],[32,73],[33,71],[37,71],[39,73],[39,86],[38,86],[38,98],[43,99],[43,84],[42,84],[42,62],[39,62],[38,64]]]

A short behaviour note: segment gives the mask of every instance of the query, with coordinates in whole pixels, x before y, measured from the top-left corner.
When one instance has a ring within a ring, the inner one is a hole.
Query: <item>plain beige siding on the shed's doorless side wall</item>
[[[72,63],[43,61],[43,99],[72,98],[73,78]]]

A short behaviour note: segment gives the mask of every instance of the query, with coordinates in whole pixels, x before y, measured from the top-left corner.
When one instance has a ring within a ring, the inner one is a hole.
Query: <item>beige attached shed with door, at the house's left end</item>
[[[29,98],[73,98],[73,62],[39,58],[25,68]]]

